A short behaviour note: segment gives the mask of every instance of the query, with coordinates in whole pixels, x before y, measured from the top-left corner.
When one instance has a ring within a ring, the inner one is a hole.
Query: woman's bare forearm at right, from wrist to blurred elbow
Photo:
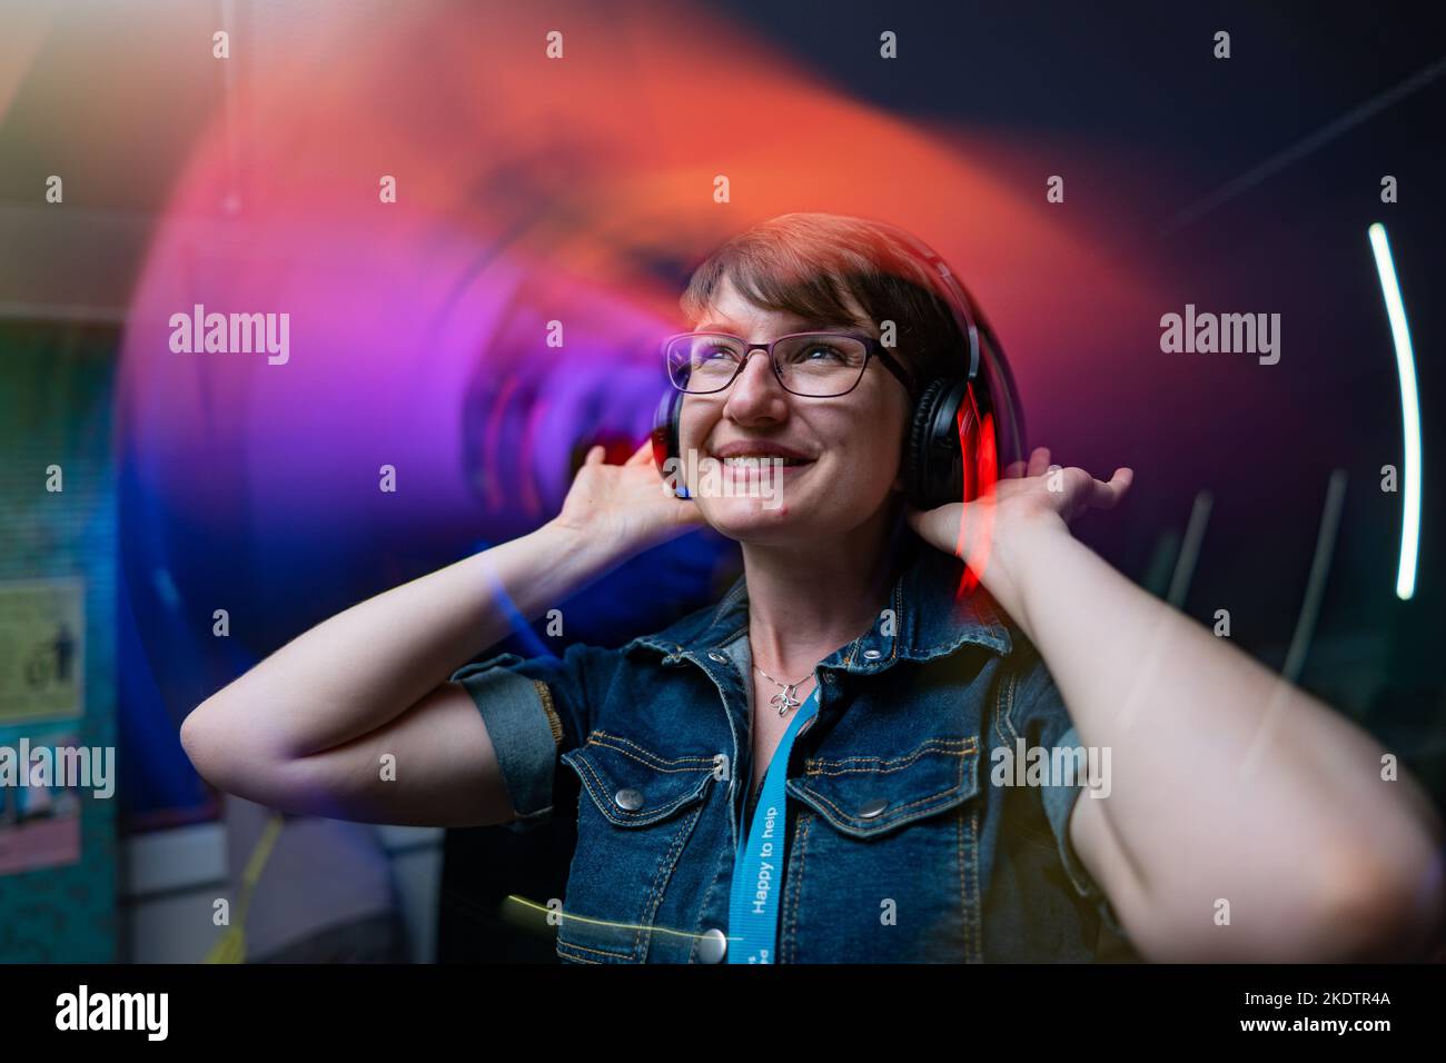
[[[983,581],[1038,646],[1080,742],[1111,749],[1105,816],[1158,913],[1223,897],[1290,918],[1433,874],[1436,814],[1404,771],[1381,778],[1369,735],[1063,528],[995,545]],[[1413,902],[1439,898],[1417,885]]]

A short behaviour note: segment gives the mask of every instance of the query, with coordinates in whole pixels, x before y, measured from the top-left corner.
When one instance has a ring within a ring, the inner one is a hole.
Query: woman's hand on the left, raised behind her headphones
[[[652,461],[652,443],[643,441],[620,466],[603,461],[593,447],[577,470],[552,524],[636,554],[703,526],[694,502],[674,498]]]

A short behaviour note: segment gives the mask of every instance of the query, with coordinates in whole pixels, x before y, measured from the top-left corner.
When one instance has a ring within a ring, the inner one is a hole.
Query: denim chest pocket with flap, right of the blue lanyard
[[[979,743],[808,758],[781,898],[784,963],[977,962]]]

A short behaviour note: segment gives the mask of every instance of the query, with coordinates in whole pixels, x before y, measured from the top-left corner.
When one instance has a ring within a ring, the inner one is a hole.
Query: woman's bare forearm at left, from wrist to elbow
[[[213,694],[276,756],[304,756],[390,722],[453,671],[612,564],[596,538],[548,524],[360,602]]]

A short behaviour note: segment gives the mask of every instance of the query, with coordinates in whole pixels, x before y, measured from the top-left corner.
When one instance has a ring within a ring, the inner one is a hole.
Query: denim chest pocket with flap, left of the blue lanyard
[[[577,772],[577,849],[558,924],[557,952],[580,963],[642,963],[654,953],[685,957],[687,934],[655,926],[678,858],[706,807],[713,756],[665,758],[594,730],[562,754]],[[659,940],[668,936],[669,940]]]

